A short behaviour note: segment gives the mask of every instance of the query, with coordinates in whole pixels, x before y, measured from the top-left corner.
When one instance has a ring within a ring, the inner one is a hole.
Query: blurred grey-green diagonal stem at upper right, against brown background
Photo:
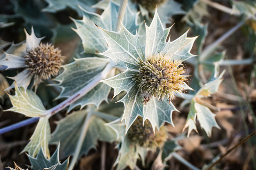
[[[218,38],[216,41],[214,41],[211,45],[209,45],[206,48],[204,48],[204,50],[202,51],[201,55],[199,55],[199,61],[203,61],[208,55],[210,55],[214,51],[214,49],[217,48],[218,45],[220,45],[220,43],[222,41],[224,41],[232,33],[236,32],[236,30],[238,30],[241,26],[243,26],[244,22],[245,21],[239,22],[236,26],[234,26],[233,28],[228,30],[228,32],[223,34],[220,38]]]

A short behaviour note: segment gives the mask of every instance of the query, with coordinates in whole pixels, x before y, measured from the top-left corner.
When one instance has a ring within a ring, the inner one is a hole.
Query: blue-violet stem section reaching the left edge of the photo
[[[21,121],[21,122],[12,124],[10,126],[4,127],[2,129],[0,129],[0,135],[4,134],[6,132],[9,132],[9,131],[15,130],[15,129],[19,129],[23,126],[27,126],[31,123],[34,123],[34,122],[38,121],[38,120],[39,120],[39,117],[33,117],[33,118],[29,118],[29,119],[26,119],[26,120]]]

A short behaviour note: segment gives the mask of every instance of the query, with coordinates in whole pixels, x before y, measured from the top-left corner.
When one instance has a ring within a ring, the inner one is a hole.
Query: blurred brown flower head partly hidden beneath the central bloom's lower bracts
[[[161,126],[159,131],[154,131],[150,122],[142,124],[143,118],[138,117],[127,132],[126,137],[132,144],[139,144],[142,147],[155,150],[164,146],[164,142],[167,140],[167,128]]]

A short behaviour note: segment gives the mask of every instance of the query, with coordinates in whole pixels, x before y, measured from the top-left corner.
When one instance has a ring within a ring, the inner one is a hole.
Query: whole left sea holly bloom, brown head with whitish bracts
[[[16,50],[16,54],[4,53],[1,56],[0,65],[5,66],[5,70],[26,68],[10,78],[15,80],[19,87],[22,86],[27,89],[31,79],[34,77],[33,86],[37,88],[43,80],[58,75],[64,56],[53,45],[40,43],[44,37],[37,38],[33,27],[30,35],[25,29],[24,31],[26,33],[26,43],[20,44],[21,49]],[[26,48],[24,49],[25,45]],[[19,51],[18,54],[17,51]],[[8,89],[14,86],[15,83],[13,82]]]

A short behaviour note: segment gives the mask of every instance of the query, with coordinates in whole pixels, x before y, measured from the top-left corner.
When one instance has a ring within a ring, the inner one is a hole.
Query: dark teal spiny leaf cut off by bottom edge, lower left
[[[58,144],[57,149],[52,154],[52,157],[50,159],[47,159],[45,157],[45,154],[44,154],[42,148],[40,148],[36,158],[34,158],[30,155],[27,155],[28,159],[31,163],[31,168],[33,170],[38,170],[38,168],[39,168],[39,170],[43,170],[44,168],[47,168],[49,166],[52,168],[54,166],[56,166],[55,170],[67,170],[68,163],[69,163],[69,157],[63,163],[60,163],[59,151],[60,151],[60,144]]]

